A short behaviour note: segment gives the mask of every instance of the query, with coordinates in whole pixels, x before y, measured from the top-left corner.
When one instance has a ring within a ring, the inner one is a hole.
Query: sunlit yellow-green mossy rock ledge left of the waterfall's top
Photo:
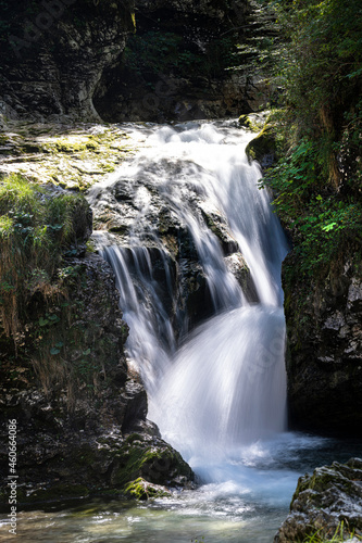
[[[86,190],[134,150],[116,125],[12,122],[0,139],[0,174]]]

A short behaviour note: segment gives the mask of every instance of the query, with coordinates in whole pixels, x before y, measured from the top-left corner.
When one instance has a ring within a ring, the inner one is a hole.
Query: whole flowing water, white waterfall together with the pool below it
[[[43,542],[272,542],[298,477],[347,460],[354,445],[287,431],[280,266],[288,247],[267,192],[258,189],[259,166],[246,157],[250,135],[233,122],[126,129],[145,139],[142,150],[96,185],[89,201],[99,210],[109,205],[123,179],[127,193],[118,201],[133,200],[128,235],[122,247],[111,236],[96,240],[116,275],[129,325],[127,356],[146,384],[148,418],[201,484],[148,504],[93,501],[24,513],[18,532],[24,541]],[[191,330],[183,296],[174,300],[174,270],[153,226],[160,209],[187,230],[208,285],[209,318]],[[250,269],[252,303],[200,210],[224,217]]]

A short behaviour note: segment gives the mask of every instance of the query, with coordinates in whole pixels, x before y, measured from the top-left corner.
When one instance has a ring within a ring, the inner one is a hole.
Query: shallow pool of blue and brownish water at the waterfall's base
[[[17,538],[22,543],[272,543],[298,477],[361,452],[358,441],[286,432],[213,465],[194,458],[194,468],[214,480],[198,490],[145,503],[92,500],[22,512]],[[14,541],[5,535],[5,517],[0,541]]]

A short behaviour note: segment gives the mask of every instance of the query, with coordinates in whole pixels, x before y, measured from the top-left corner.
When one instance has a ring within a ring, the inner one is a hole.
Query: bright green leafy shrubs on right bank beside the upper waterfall
[[[326,189],[316,147],[302,139],[262,181],[274,190],[274,205],[292,232],[300,270],[313,277],[327,273],[333,260],[362,242],[362,203]]]

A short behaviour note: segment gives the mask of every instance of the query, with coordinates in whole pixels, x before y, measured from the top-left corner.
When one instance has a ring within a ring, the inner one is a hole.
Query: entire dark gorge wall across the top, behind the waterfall
[[[229,71],[257,24],[249,0],[3,4],[4,118],[221,118],[265,98],[257,78]]]

